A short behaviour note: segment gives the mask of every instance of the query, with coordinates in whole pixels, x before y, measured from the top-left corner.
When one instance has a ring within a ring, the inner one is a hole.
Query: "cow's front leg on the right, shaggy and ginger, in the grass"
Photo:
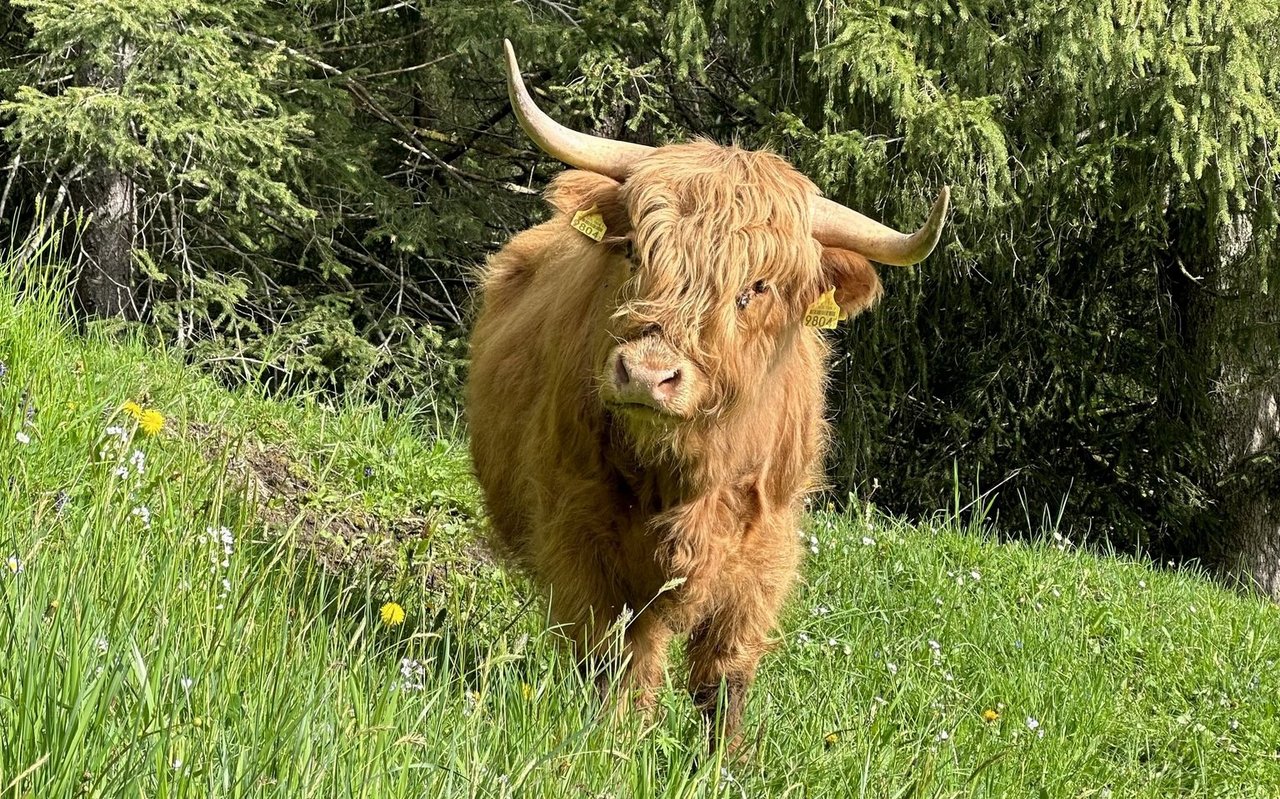
[[[746,693],[769,649],[786,586],[741,585],[689,638],[689,693],[708,723],[710,748],[719,743],[717,717],[730,749],[739,744]],[[723,704],[719,703],[723,685]]]

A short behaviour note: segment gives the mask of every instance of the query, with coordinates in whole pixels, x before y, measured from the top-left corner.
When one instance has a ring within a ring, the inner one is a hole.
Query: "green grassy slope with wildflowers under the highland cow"
[[[525,586],[466,557],[465,453],[412,414],[230,393],[55,319],[0,288],[0,557],[22,565],[0,570],[0,796],[1280,794],[1275,607],[1052,542],[824,513],[753,697],[756,754],[726,777],[695,764],[678,690],[648,727],[598,712]],[[129,423],[100,457],[138,398],[165,432]],[[227,460],[262,447],[302,496],[248,497]],[[142,474],[114,475],[134,449]],[[413,562],[329,575],[300,545],[329,528],[372,549],[417,529],[396,548]]]

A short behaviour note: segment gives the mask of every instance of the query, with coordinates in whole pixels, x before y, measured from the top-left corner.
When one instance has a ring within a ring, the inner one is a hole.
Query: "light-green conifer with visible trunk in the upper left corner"
[[[161,277],[156,257],[189,259],[195,229],[248,233],[260,209],[310,214],[282,179],[308,136],[306,117],[265,88],[279,55],[234,37],[262,3],[14,5],[36,56],[10,76],[5,137],[88,219],[77,291],[86,311],[140,315],[136,266]]]

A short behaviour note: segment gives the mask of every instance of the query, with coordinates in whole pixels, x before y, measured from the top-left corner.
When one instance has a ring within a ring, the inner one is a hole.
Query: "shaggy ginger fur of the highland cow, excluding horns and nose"
[[[489,261],[471,342],[471,451],[497,548],[549,590],[580,654],[630,616],[641,702],[687,634],[689,689],[713,714],[726,686],[730,735],[820,469],[827,347],[801,318],[831,287],[850,314],[881,293],[864,257],[812,238],[815,192],[776,155],[710,142],[657,149],[622,184],[566,172],[554,218]],[[593,205],[600,243],[570,227]],[[611,405],[620,351],[681,365],[666,412]]]

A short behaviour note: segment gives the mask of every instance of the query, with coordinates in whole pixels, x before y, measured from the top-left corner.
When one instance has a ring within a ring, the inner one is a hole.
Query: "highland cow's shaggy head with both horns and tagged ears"
[[[771,152],[707,141],[646,147],[547,117],[507,42],[512,106],[530,138],[576,166],[553,183],[566,214],[594,207],[609,254],[599,396],[634,430],[714,420],[776,379],[806,309],[826,291],[845,314],[876,302],[869,260],[910,265],[942,232],[947,190],[915,233],[818,195]]]

